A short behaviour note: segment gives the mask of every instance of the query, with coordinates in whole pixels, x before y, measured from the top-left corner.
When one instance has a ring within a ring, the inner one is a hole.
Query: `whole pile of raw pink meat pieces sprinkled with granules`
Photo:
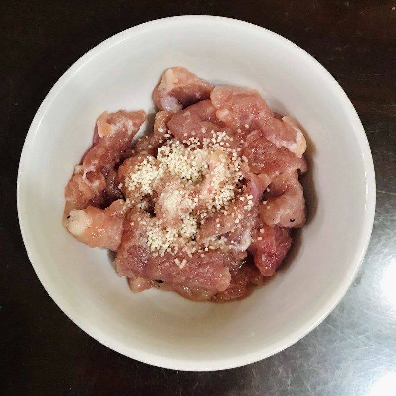
[[[214,88],[182,67],[163,73],[153,99],[154,131],[135,148],[143,111],[99,116],[65,189],[64,224],[116,251],[133,292],[244,298],[274,274],[290,229],[305,222],[304,136],[257,91]]]

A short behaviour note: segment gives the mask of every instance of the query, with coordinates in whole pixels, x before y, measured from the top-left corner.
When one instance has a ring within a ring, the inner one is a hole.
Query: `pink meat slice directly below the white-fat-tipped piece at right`
[[[267,184],[281,173],[307,170],[304,157],[298,158],[287,148],[277,147],[260,131],[253,131],[245,138],[242,156],[247,159],[251,171],[266,178]]]

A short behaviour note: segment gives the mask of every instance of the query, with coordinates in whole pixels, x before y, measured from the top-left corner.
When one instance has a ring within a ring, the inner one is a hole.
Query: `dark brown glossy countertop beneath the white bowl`
[[[3,0],[0,394],[395,395],[395,7],[396,2],[389,0]],[[22,145],[34,114],[56,80],[109,36],[179,14],[243,19],[281,34],[313,55],[354,104],[376,171],[371,242],[357,278],[334,312],[285,351],[218,372],[152,367],[102,346],[75,326],[40,284],[23,246],[16,210]]]

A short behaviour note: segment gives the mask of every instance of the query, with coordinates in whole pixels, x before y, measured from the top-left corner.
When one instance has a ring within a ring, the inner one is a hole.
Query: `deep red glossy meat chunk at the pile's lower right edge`
[[[271,276],[286,257],[291,244],[289,228],[263,224],[253,232],[253,242],[248,251],[261,275]]]

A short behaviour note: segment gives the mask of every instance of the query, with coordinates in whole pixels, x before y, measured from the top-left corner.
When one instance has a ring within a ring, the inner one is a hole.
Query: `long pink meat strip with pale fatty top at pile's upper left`
[[[131,146],[132,139],[146,119],[144,111],[116,113],[99,116],[99,139],[85,154],[82,164],[76,166],[65,188],[65,216],[73,209],[83,209],[89,204],[100,204],[106,188],[105,175],[114,169],[117,161]]]

